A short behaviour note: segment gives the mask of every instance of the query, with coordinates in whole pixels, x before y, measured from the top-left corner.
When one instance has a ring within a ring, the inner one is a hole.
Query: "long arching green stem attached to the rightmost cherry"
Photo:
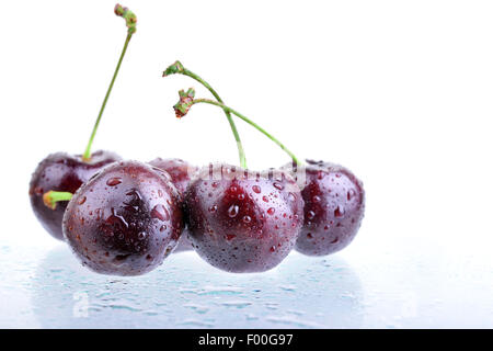
[[[243,120],[244,122],[246,122],[248,124],[250,124],[251,126],[253,126],[254,128],[256,128],[259,132],[261,132],[262,134],[264,134],[267,138],[270,138],[271,140],[273,140],[275,144],[277,144],[286,154],[289,155],[289,157],[293,159],[293,161],[296,165],[301,165],[301,162],[298,160],[298,158],[286,147],[284,146],[283,143],[280,143],[279,140],[277,140],[273,135],[271,135],[267,131],[265,131],[264,128],[262,128],[260,125],[257,125],[255,122],[251,121],[250,118],[248,118],[246,116],[242,115],[241,113],[239,113],[238,111],[234,111],[233,109],[225,105],[223,103],[214,101],[214,100],[209,100],[209,99],[194,99],[195,97],[195,90],[193,88],[188,89],[186,92],[181,90],[180,91],[180,102],[176,103],[173,107],[174,111],[176,113],[176,117],[181,118],[184,115],[186,115],[186,113],[188,113],[190,109],[197,103],[208,103],[211,105],[216,105],[221,107],[225,111],[228,111],[232,114],[234,114],[236,116],[240,117],[241,120]]]

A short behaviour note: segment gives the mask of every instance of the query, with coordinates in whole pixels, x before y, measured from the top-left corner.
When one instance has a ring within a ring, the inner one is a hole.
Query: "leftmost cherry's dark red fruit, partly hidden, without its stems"
[[[82,155],[56,152],[37,165],[30,183],[31,206],[53,237],[64,240],[61,219],[68,202],[59,202],[51,210],[43,203],[43,194],[50,190],[74,193],[94,173],[118,160],[121,157],[116,154],[102,150],[93,152],[89,161],[83,161]]]

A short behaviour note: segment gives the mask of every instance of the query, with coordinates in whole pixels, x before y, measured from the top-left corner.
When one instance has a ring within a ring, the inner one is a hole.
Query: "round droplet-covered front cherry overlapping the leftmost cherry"
[[[170,176],[146,163],[104,168],[73,194],[64,235],[94,272],[138,275],[162,263],[183,230],[181,196]]]

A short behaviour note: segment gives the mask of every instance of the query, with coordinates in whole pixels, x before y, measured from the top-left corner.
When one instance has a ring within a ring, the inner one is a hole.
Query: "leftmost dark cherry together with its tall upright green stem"
[[[58,192],[73,193],[76,190],[95,172],[104,166],[117,161],[119,156],[108,151],[96,151],[91,154],[91,146],[94,139],[98,126],[106,106],[107,99],[118,73],[122,60],[125,56],[128,43],[136,29],[136,16],[128,9],[121,7],[115,8],[115,13],[126,20],[128,26],[127,38],[122,52],[122,56],[116,66],[110,88],[104,98],[98,120],[94,124],[91,137],[89,139],[85,152],[83,155],[68,155],[65,152],[51,154],[43,159],[34,171],[30,183],[30,199],[34,214],[42,223],[45,229],[55,238],[62,240],[61,218],[67,203],[60,203],[54,208],[43,205],[43,194],[49,190]],[[60,199],[61,200],[61,199]]]

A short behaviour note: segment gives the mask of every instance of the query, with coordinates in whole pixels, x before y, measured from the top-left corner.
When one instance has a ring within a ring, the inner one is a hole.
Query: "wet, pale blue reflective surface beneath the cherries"
[[[259,274],[221,272],[195,252],[183,252],[144,276],[115,278],[84,269],[62,244],[3,245],[0,327],[492,326],[491,264],[444,264],[426,252],[412,260],[399,250],[348,258],[343,252],[325,258],[293,252]]]

